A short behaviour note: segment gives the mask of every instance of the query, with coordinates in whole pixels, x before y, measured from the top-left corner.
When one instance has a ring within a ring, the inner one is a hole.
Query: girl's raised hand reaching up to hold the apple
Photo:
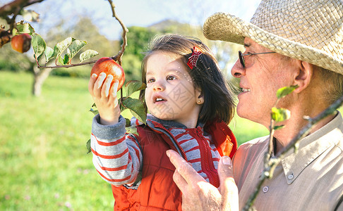
[[[90,95],[99,110],[100,124],[104,125],[118,123],[120,116],[120,108],[116,99],[116,89],[119,82],[115,80],[111,87],[112,80],[112,75],[106,75],[102,72],[99,77],[93,74],[88,84],[88,91],[90,91]]]

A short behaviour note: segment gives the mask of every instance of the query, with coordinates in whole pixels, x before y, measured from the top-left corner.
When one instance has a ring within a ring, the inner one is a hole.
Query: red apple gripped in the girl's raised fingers
[[[106,73],[106,75],[113,75],[111,87],[116,79],[119,81],[117,91],[123,87],[125,82],[125,73],[123,68],[121,68],[121,65],[116,63],[115,60],[109,57],[102,57],[97,60],[97,62],[93,65],[92,71],[90,71],[90,75],[95,73],[97,76],[99,76],[101,72]]]

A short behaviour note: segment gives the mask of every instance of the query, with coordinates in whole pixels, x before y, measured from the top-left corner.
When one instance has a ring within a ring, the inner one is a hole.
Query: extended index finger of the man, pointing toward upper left
[[[196,172],[191,165],[186,162],[176,151],[167,151],[170,162],[175,166],[176,171],[179,172],[181,177],[186,180],[187,184],[197,183],[198,181],[205,181],[203,177]]]

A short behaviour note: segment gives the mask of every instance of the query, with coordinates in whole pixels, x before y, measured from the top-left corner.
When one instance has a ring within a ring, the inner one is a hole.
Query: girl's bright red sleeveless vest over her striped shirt
[[[232,158],[237,149],[234,134],[227,124],[209,125],[204,129],[212,135],[219,154]],[[137,190],[112,185],[114,210],[181,210],[182,193],[173,181],[175,167],[166,155],[169,149],[176,151],[176,146],[166,134],[150,127],[137,130],[143,151],[142,180]]]

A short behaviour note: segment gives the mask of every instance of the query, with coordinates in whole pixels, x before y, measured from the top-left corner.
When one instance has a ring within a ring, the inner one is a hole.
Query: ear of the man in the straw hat
[[[315,65],[312,65],[303,60],[297,60],[296,63],[298,69],[296,74],[294,75],[294,85],[298,85],[298,88],[296,88],[294,91],[296,93],[299,93],[303,91],[303,89],[306,89],[306,87],[308,87],[308,84],[310,84],[313,77],[313,69],[315,68]]]

